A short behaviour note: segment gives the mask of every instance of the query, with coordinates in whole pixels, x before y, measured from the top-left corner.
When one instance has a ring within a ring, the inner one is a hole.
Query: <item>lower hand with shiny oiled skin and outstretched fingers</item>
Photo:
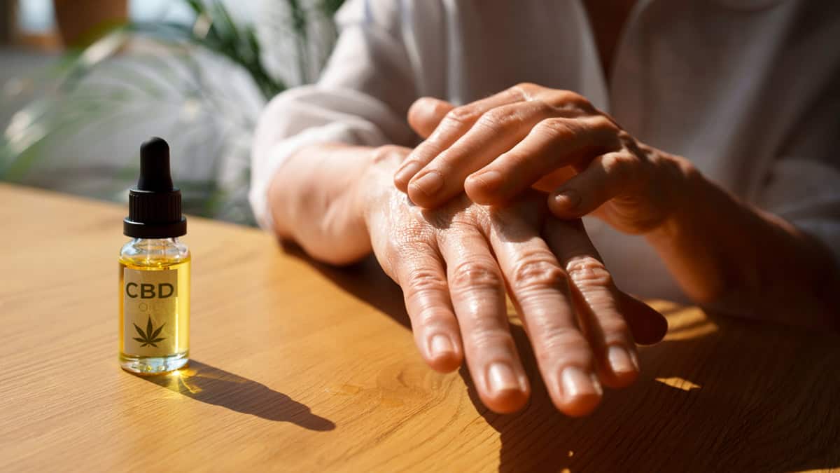
[[[487,407],[523,407],[530,385],[508,327],[507,288],[560,411],[585,415],[601,400],[601,384],[631,384],[635,342],[658,342],[667,322],[616,288],[581,222],[548,218],[537,192],[498,207],[462,194],[424,210],[391,184],[410,151],[377,149],[357,201],[376,258],[402,286],[428,364],[451,371],[466,359]]]

